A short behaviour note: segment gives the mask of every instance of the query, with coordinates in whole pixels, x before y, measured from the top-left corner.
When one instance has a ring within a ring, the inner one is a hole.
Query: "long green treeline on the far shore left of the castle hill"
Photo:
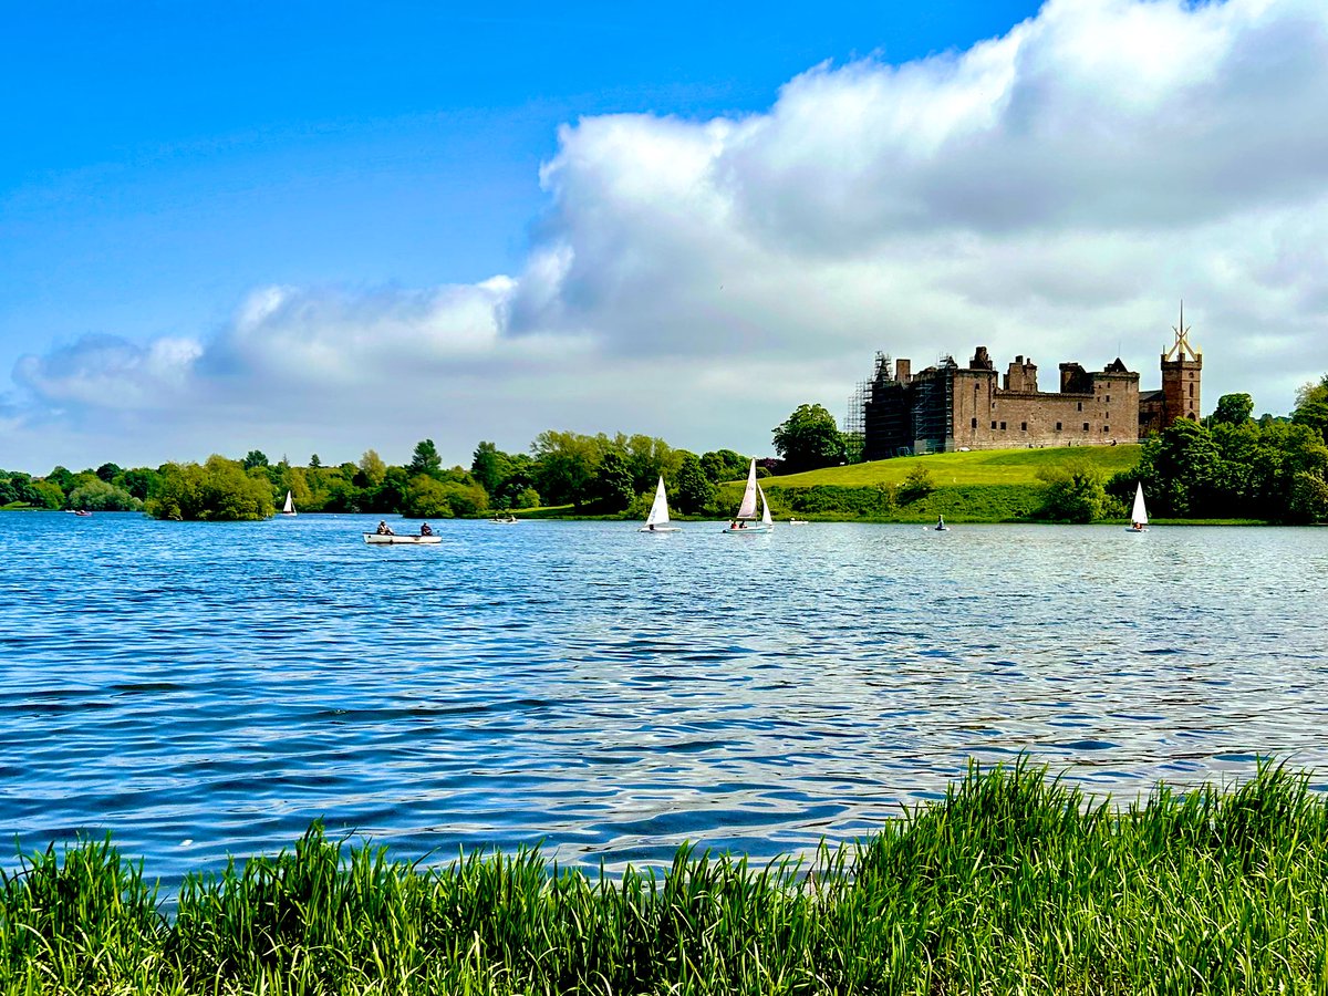
[[[749,457],[733,450],[696,456],[648,436],[582,436],[546,432],[530,453],[505,453],[481,442],[469,469],[444,467],[432,440],[416,445],[405,466],[374,450],[357,463],[272,463],[260,450],[242,459],[214,454],[203,463],[124,469],[104,463],[45,477],[0,470],[0,507],[138,511],[162,519],[244,521],[272,515],[290,491],[304,513],[400,513],[453,518],[507,509],[571,506],[579,514],[644,515],[663,474],[683,514],[717,514],[720,481],[746,474]],[[768,474],[769,470],[762,470]]]

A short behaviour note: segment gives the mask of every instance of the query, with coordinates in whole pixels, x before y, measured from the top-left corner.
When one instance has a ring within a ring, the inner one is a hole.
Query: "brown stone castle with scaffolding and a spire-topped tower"
[[[1161,432],[1178,418],[1199,418],[1203,353],[1190,329],[1174,329],[1162,353],[1162,389],[1139,390],[1139,374],[1120,357],[1101,371],[1060,364],[1058,390],[1037,389],[1037,365],[1016,356],[1004,376],[987,347],[968,367],[947,356],[912,372],[908,360],[876,355],[872,378],[862,385],[863,459],[907,453],[1009,449],[1015,446],[1110,446]]]

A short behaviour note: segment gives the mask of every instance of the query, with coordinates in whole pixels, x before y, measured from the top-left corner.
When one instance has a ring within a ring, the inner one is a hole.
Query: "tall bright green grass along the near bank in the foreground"
[[[8,992],[1324,992],[1328,810],[1304,776],[1142,806],[1016,764],[807,867],[681,850],[592,880],[538,853],[444,869],[315,826],[194,876],[167,920],[104,843],[3,882]]]

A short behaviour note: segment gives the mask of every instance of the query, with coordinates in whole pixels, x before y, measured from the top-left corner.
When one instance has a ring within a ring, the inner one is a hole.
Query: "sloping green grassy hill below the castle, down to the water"
[[[1138,445],[938,453],[770,477],[762,487],[777,518],[927,522],[944,515],[955,522],[1017,522],[1042,503],[1038,471],[1086,463],[1109,478],[1138,458]],[[927,470],[936,490],[899,501],[899,486],[915,467]],[[736,505],[740,489],[741,482],[725,485],[724,497]]]

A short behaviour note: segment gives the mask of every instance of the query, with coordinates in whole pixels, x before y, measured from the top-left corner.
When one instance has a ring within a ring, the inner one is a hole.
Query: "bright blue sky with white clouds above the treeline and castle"
[[[1328,4],[0,0],[0,467],[1328,372]],[[497,13],[494,12],[497,9]]]

